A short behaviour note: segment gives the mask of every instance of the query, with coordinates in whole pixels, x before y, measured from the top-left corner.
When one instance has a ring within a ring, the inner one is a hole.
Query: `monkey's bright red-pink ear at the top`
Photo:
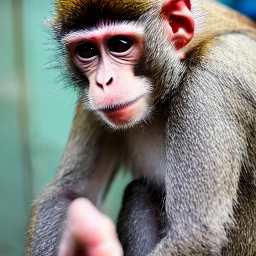
[[[177,50],[182,49],[194,34],[190,0],[165,0],[162,15],[167,19],[167,34]]]

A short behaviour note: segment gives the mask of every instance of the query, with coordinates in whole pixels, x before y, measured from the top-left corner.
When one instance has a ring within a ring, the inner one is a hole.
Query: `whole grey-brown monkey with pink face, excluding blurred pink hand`
[[[77,90],[55,178],[32,203],[29,256],[57,255],[67,209],[133,175],[126,256],[256,255],[256,26],[212,0],[54,0]]]

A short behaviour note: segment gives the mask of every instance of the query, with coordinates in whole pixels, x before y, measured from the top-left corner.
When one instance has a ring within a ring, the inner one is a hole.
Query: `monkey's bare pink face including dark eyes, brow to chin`
[[[82,91],[85,107],[113,128],[132,126],[149,116],[149,79],[134,75],[144,47],[142,29],[102,23],[69,33],[63,42],[68,42],[73,64],[88,80]]]

